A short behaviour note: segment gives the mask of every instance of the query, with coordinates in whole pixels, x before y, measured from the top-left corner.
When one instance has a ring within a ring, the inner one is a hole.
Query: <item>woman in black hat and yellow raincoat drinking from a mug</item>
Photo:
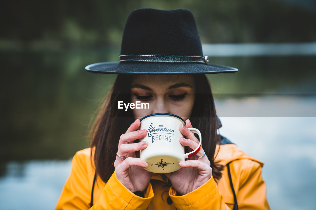
[[[263,163],[217,134],[221,127],[205,73],[232,73],[233,67],[209,64],[189,10],[134,10],[125,26],[120,62],[86,67],[116,73],[91,132],[91,146],[78,151],[56,209],[269,209]],[[148,109],[119,109],[118,102],[148,102]],[[186,119],[179,139],[195,149],[192,125],[203,147],[178,171],[144,170],[138,139],[140,118],[171,113]]]

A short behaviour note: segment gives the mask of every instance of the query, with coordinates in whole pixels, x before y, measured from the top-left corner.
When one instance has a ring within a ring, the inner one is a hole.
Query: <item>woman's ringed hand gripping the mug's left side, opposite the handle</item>
[[[114,162],[116,177],[119,181],[131,192],[138,190],[144,191],[149,184],[152,172],[148,172],[144,167],[148,166],[146,162],[136,157],[135,152],[141,149],[145,149],[148,146],[148,142],[133,143],[136,139],[141,139],[147,135],[147,130],[138,130],[140,120],[137,119],[127,129],[125,134],[122,134],[119,139],[120,156],[127,155],[125,160],[119,156],[116,156]]]

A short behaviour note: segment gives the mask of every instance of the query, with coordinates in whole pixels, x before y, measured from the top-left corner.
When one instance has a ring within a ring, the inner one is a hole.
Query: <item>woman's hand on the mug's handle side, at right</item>
[[[186,127],[179,126],[180,132],[186,138],[180,138],[180,143],[184,146],[190,147],[192,150],[198,146],[198,140],[194,134],[187,128],[191,128],[190,120],[185,121]],[[204,150],[201,150],[197,155],[187,158],[184,162],[180,162],[181,167],[178,171],[166,173],[173,188],[181,195],[185,195],[204,183],[206,183],[212,176],[212,168],[210,167],[210,160],[204,155],[202,158],[198,158],[204,154]]]

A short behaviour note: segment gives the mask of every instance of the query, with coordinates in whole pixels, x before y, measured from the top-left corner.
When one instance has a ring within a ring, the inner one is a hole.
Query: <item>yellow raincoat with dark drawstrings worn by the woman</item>
[[[217,145],[216,153],[218,149]],[[107,183],[97,177],[94,184],[93,206],[90,208],[95,171],[91,166],[90,148],[83,149],[73,157],[70,176],[59,197],[56,210],[233,209],[234,195],[228,178],[228,163],[239,210],[270,209],[266,200],[265,183],[261,176],[261,161],[246,155],[232,143],[220,146],[216,160],[225,165],[218,184],[211,176],[205,184],[182,196],[176,196],[176,191],[168,185],[166,176],[160,174],[153,174],[144,191],[144,198],[135,195],[121,184],[115,172]]]

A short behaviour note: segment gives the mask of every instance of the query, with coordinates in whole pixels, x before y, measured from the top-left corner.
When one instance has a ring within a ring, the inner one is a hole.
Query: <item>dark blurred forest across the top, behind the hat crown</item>
[[[301,2],[304,6],[292,0],[6,1],[0,40],[60,47],[119,46],[133,9],[187,8],[196,18],[203,43],[315,41],[316,10],[311,9],[315,4]]]

